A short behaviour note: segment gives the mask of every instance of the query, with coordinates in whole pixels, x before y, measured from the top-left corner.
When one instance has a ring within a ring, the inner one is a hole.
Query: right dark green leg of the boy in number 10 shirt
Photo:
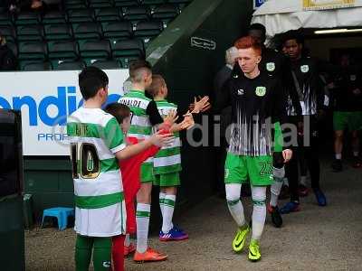
[[[108,271],[111,269],[111,238],[94,238],[93,266],[94,271]],[[123,254],[122,254],[123,257]]]

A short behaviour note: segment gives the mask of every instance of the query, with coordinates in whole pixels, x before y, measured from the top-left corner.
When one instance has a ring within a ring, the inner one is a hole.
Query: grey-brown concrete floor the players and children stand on
[[[246,251],[233,253],[235,225],[225,201],[213,197],[176,221],[189,240],[151,237],[150,245],[167,253],[167,261],[139,265],[129,258],[126,270],[362,270],[362,169],[331,173],[324,164],[321,176],[329,205],[319,207],[310,195],[299,213],[283,216],[281,229],[268,217],[258,263],[249,262]],[[250,217],[250,199],[243,202]],[[25,238],[26,270],[74,270],[72,229],[33,229]]]

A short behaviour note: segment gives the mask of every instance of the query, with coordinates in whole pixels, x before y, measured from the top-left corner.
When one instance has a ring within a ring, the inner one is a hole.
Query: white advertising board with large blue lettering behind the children
[[[118,101],[129,70],[104,70],[107,103]],[[24,155],[68,155],[66,117],[82,105],[77,70],[0,72],[0,108],[21,109]]]

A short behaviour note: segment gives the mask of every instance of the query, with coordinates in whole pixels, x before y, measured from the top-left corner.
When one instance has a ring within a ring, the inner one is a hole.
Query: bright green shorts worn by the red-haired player
[[[228,153],[225,162],[225,183],[247,183],[267,186],[273,182],[272,156],[246,156]]]

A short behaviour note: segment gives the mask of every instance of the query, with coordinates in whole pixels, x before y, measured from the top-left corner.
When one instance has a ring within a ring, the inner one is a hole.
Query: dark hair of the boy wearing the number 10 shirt
[[[96,67],[87,67],[81,70],[78,76],[81,97],[85,100],[97,95],[101,88],[106,88],[109,83],[107,74]]]

